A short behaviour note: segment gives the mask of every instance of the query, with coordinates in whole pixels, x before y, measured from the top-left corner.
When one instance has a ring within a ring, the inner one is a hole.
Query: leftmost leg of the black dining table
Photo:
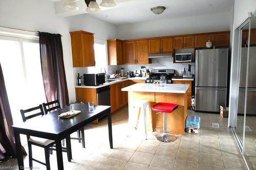
[[[22,143],[20,143],[19,132],[14,129],[15,146],[17,152],[18,169],[24,169],[23,155],[22,155]]]

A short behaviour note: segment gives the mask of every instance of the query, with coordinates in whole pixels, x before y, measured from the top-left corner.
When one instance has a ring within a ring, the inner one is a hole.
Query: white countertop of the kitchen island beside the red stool
[[[137,83],[122,88],[122,91],[185,93],[188,87],[189,84],[166,84],[166,86],[160,87],[152,83]]]

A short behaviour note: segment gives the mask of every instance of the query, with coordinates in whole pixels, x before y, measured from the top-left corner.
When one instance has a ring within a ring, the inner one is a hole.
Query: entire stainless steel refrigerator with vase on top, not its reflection
[[[228,48],[196,51],[196,111],[219,112],[226,106]]]

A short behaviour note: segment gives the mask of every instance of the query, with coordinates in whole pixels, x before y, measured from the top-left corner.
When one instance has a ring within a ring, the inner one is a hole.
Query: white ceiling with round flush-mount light
[[[100,13],[89,14],[85,11],[86,5],[83,0],[77,2],[79,10],[72,12],[62,9],[64,0],[51,1],[55,1],[57,15],[71,16],[84,13],[114,25],[229,12],[234,4],[234,0],[115,0],[116,7],[100,7],[102,9]],[[98,4],[100,2],[101,0],[97,0]],[[166,10],[160,15],[153,14],[150,8],[155,6],[165,6]],[[104,15],[108,17],[102,17]]]

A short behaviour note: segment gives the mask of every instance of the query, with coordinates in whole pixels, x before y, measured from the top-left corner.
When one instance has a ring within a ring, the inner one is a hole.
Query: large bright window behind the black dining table
[[[46,102],[38,40],[0,36],[0,63],[13,122],[20,122],[20,109]]]

